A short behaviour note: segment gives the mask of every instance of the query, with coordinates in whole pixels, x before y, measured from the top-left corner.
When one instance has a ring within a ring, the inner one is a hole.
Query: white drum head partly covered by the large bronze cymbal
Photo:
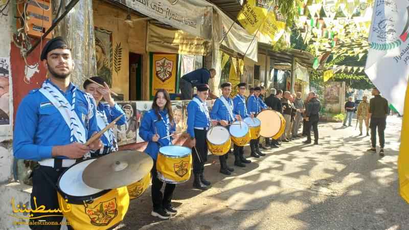
[[[84,169],[96,159],[97,158],[82,160],[65,170],[58,179],[58,189],[64,198],[69,199],[70,203],[76,200],[97,198],[109,191],[91,188],[85,185],[82,180],[82,172],[84,172]]]

